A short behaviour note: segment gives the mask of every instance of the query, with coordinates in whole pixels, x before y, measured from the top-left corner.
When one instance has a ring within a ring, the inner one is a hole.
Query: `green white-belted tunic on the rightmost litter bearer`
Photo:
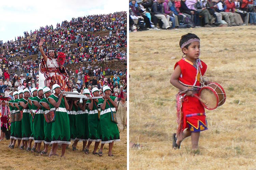
[[[110,96],[114,101],[116,97]],[[120,141],[119,131],[117,124],[111,121],[111,111],[115,112],[116,109],[112,103],[106,103],[104,110],[101,109],[100,112],[100,125],[101,125],[101,143],[111,143],[113,141]],[[103,104],[104,99],[99,99],[98,107]]]

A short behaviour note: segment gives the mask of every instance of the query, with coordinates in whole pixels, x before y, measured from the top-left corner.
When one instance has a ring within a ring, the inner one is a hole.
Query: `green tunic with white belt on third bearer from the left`
[[[18,103],[24,102],[25,104],[28,103],[28,101],[24,98],[20,99]],[[20,105],[20,104],[19,104]],[[30,120],[29,120],[29,109],[23,108],[22,106],[19,106],[19,110],[23,111],[22,116],[22,140],[29,140],[29,137],[31,135],[31,128],[30,128]]]

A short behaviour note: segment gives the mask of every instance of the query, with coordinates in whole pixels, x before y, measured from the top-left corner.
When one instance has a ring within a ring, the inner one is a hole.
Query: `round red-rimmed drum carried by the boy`
[[[199,97],[202,99],[202,105],[213,110],[221,106],[226,101],[226,93],[221,85],[218,83],[210,83],[199,90]]]

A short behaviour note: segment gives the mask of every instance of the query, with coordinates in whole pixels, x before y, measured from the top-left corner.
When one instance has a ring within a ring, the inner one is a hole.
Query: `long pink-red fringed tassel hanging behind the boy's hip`
[[[176,109],[177,109],[177,123],[178,123],[178,128],[177,128],[177,136],[182,137],[182,131],[183,131],[183,114],[181,111],[182,108],[182,96],[180,94],[176,95]]]

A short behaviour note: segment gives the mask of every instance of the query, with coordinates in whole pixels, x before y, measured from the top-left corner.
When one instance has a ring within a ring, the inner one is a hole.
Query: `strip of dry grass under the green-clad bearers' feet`
[[[127,169],[127,131],[120,133],[120,142],[114,143],[114,157],[108,156],[108,145],[104,145],[103,156],[93,155],[94,142],[90,146],[90,153],[82,152],[82,142],[77,145],[77,151],[67,149],[65,158],[41,156],[36,153],[9,149],[10,140],[0,142],[0,169]],[[71,142],[73,143],[73,142]],[[16,146],[15,146],[16,147]],[[70,146],[71,147],[71,146]],[[49,153],[49,151],[48,151]],[[57,154],[61,153],[58,148]]]

